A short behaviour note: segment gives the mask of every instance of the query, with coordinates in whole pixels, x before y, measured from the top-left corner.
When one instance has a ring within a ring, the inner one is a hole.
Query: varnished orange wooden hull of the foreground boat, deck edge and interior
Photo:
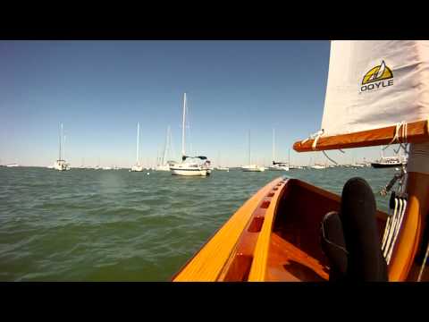
[[[275,179],[248,199],[173,281],[327,281],[320,225],[340,202],[340,196],[306,182]],[[377,211],[380,238],[386,218]]]

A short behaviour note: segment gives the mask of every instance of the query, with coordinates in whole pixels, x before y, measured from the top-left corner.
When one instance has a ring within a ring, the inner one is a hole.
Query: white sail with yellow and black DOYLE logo
[[[429,115],[429,41],[332,41],[323,136]]]

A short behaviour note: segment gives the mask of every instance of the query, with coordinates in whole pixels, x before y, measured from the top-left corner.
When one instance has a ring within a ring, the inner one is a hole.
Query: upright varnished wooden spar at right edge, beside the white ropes
[[[409,274],[416,271],[414,260],[422,244],[425,219],[429,212],[429,174],[409,172],[407,192],[407,212],[389,265],[389,281],[392,282],[415,280]]]

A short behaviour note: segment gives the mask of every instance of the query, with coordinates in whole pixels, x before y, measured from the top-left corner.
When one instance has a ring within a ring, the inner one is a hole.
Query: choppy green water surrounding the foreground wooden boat
[[[341,193],[380,191],[395,169],[330,168],[181,177],[128,170],[0,167],[1,281],[165,281],[246,201],[287,174]],[[377,197],[387,210],[387,197]]]

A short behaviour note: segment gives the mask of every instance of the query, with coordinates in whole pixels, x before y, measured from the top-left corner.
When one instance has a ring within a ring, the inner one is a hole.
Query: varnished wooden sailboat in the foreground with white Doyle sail
[[[293,148],[409,143],[408,165],[380,191],[391,192],[389,214],[376,209],[362,178],[345,181],[338,195],[280,177],[172,281],[429,281],[429,42],[332,41],[330,55],[323,130]]]

